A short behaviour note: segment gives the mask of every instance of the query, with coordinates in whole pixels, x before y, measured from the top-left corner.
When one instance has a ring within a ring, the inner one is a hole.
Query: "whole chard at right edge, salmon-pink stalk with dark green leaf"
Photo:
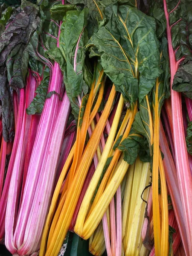
[[[191,43],[188,38],[190,38],[191,34],[190,26],[192,26],[192,9],[186,1],[172,3],[172,1],[163,0],[163,4],[167,24],[171,71],[173,137],[175,144],[177,176],[179,180],[181,201],[184,209],[184,219],[189,244],[189,255],[192,255],[192,216],[190,214],[192,207],[191,204],[189,204],[189,201],[192,200],[192,179],[185,142],[180,93],[180,87],[183,87],[183,93],[189,95],[185,89],[185,85],[189,84],[188,79],[190,78],[189,66],[192,53]],[[177,33],[177,29],[180,29],[179,34]],[[184,72],[181,72],[182,70],[184,70]],[[179,79],[177,79],[178,77]],[[184,79],[184,77],[186,79]],[[187,86],[187,88],[188,87],[189,86]],[[180,135],[179,137],[178,134]]]

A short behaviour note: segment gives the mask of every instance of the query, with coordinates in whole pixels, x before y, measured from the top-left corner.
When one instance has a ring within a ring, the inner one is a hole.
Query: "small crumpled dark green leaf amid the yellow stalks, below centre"
[[[128,137],[119,144],[118,149],[123,151],[125,160],[129,164],[133,164],[140,151],[140,143],[142,143],[143,136],[137,134],[132,128]]]

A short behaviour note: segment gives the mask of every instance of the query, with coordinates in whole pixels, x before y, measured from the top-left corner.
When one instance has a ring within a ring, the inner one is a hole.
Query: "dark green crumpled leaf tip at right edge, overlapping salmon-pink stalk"
[[[192,61],[185,61],[178,68],[174,76],[172,89],[182,92],[184,96],[192,99]]]

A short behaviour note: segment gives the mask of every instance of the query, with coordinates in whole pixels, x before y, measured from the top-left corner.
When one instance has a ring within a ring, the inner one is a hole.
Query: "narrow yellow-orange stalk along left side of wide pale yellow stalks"
[[[123,204],[122,204],[122,240],[125,237],[125,229],[126,229],[126,224],[128,220],[128,207],[129,207],[130,197],[131,197],[131,184],[133,180],[134,166],[135,166],[135,163],[130,165],[128,169],[125,195],[124,195]]]

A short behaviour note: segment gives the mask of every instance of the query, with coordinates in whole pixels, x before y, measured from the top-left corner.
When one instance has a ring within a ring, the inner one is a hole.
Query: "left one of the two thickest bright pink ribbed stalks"
[[[55,90],[57,93],[59,93],[62,79],[63,76],[61,74],[60,67],[58,63],[55,63],[52,80],[49,84],[49,91]],[[43,112],[41,114],[41,119],[29,162],[26,184],[23,193],[23,201],[15,228],[14,242],[15,247],[17,248],[20,248],[23,244],[26,224],[29,218],[30,209],[32,207],[35,190],[38,185],[39,176],[41,172],[43,172],[42,166],[45,161],[45,156],[49,152],[48,145],[58,112],[58,101],[59,99],[57,94],[53,94],[51,98],[46,99]]]

